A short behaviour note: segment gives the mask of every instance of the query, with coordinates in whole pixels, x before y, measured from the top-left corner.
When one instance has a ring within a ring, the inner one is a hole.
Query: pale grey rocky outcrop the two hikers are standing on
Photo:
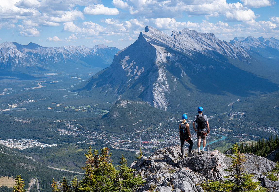
[[[263,187],[277,192],[279,182],[266,178],[266,173],[275,167],[275,162],[249,153],[245,157],[245,171],[253,174],[255,181],[261,181]],[[145,178],[139,192],[203,192],[198,184],[207,179],[223,180],[223,176],[228,174],[224,169],[230,165],[231,158],[218,150],[182,159],[180,147],[174,146],[157,150],[150,157],[141,156],[131,167],[136,169],[135,174]]]

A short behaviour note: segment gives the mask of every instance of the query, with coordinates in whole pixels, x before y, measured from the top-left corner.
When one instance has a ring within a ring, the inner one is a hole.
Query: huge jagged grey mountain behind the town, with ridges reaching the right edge
[[[168,36],[146,26],[110,67],[75,86],[100,101],[143,100],[170,112],[229,110],[229,103],[278,90],[279,40],[235,38],[189,29]]]

